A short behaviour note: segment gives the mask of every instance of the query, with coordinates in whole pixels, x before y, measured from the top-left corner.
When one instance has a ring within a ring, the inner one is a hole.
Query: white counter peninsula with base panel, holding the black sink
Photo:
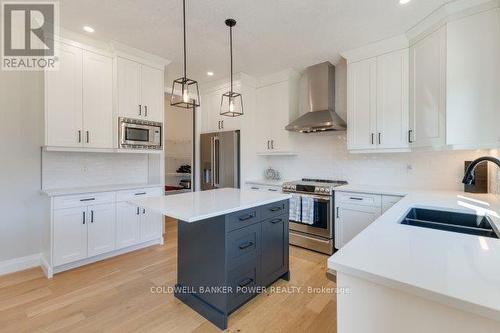
[[[401,224],[412,208],[487,215],[500,197],[347,185],[404,198],[328,259],[339,333],[500,332],[500,240]]]

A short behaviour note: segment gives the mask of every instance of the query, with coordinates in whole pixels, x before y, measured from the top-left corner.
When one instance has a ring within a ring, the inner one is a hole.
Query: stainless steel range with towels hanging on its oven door
[[[283,192],[298,197],[292,200],[300,205],[300,209],[297,209],[290,201],[290,244],[326,254],[333,253],[334,188],[346,184],[346,181],[307,178],[283,184]],[[292,209],[300,213],[292,212]],[[306,218],[305,214],[310,216]]]

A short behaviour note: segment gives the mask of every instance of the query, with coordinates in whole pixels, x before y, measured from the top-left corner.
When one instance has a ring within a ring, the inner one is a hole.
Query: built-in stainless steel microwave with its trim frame
[[[131,149],[162,149],[162,123],[118,118],[119,147]]]

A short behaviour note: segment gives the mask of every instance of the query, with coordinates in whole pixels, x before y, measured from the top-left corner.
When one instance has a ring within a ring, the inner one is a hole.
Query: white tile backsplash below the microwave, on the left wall
[[[146,154],[44,152],[43,189],[148,182]]]

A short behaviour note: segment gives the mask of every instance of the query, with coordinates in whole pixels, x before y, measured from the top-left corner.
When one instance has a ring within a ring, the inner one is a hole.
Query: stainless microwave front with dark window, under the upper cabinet
[[[122,146],[161,147],[161,127],[123,122],[120,143]]]

